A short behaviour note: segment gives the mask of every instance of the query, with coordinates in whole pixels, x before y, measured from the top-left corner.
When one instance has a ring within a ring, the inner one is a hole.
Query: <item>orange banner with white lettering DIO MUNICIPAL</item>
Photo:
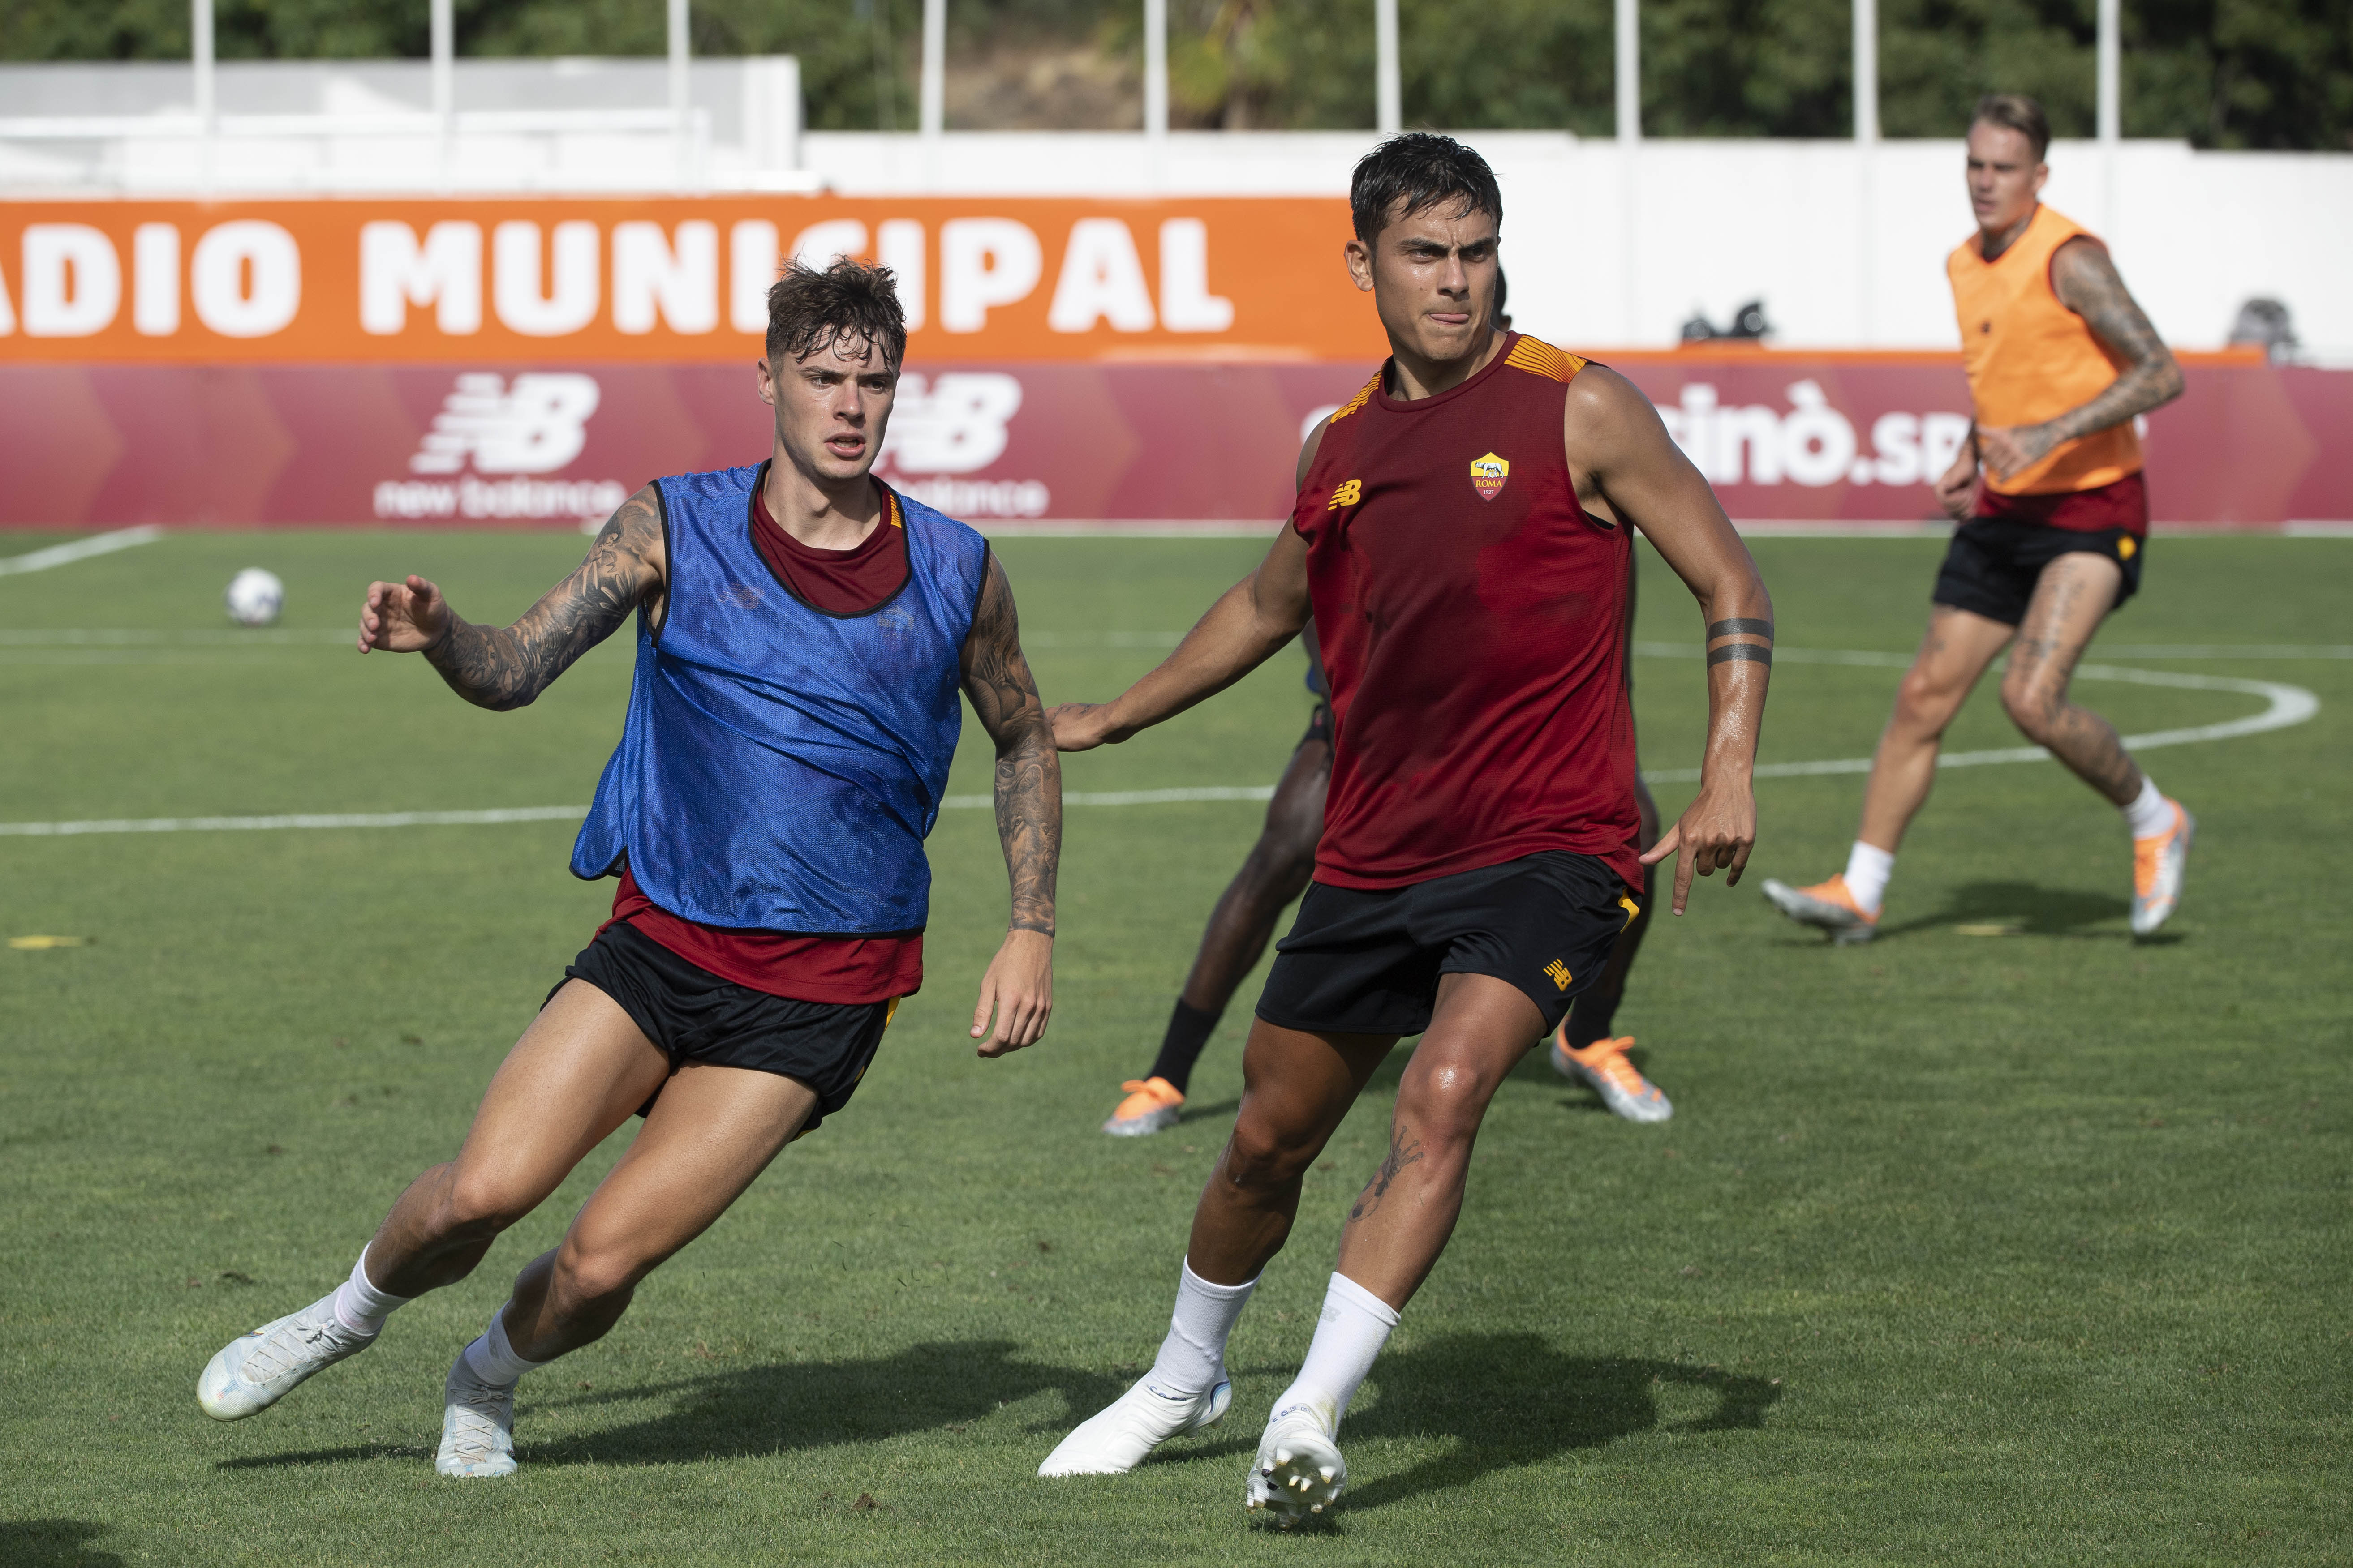
[[[925,362],[1377,360],[1346,240],[1341,200],[7,202],[0,364],[741,360],[779,261],[840,254]]]

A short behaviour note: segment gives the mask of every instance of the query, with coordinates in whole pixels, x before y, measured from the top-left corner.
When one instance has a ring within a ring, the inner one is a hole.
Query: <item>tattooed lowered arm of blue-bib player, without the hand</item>
[[[1005,567],[988,557],[981,602],[965,635],[965,696],[998,743],[998,839],[1014,891],[1014,931],[1054,936],[1054,870],[1061,863],[1061,757],[1021,656],[1021,623]]]

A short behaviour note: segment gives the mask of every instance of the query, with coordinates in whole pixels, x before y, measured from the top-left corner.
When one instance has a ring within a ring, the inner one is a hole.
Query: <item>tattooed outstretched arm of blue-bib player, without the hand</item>
[[[452,611],[449,630],[426,658],[468,703],[496,712],[525,708],[661,588],[661,571],[647,559],[659,545],[661,512],[642,489],[595,536],[588,559],[520,621],[489,628]]]

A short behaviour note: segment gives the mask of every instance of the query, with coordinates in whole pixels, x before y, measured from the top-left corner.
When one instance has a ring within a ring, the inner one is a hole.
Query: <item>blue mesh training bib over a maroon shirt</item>
[[[572,875],[609,877],[626,858],[647,898],[706,926],[920,931],[922,842],[962,731],[988,541],[885,487],[908,581],[864,616],[833,616],[753,545],[765,475],[760,463],[656,482],[668,614],[654,632],[638,611],[628,724]]]

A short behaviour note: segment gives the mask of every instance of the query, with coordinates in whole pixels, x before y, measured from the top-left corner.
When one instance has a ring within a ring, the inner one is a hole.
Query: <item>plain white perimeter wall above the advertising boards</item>
[[[1464,132],[1504,186],[1515,324],[1560,343],[1668,346],[1765,301],[1784,348],[1953,348],[1946,254],[1972,233],[1960,141],[1614,141]],[[965,132],[802,136],[842,195],[1346,195],[1369,134]],[[2219,348],[2238,306],[2287,303],[2311,357],[2353,362],[2353,155],[2049,150],[2045,200],[2104,235],[2151,320]],[[2111,172],[2113,169],[2113,172]],[[1219,266],[1212,259],[1212,266]],[[1334,254],[1332,277],[1341,263]]]

